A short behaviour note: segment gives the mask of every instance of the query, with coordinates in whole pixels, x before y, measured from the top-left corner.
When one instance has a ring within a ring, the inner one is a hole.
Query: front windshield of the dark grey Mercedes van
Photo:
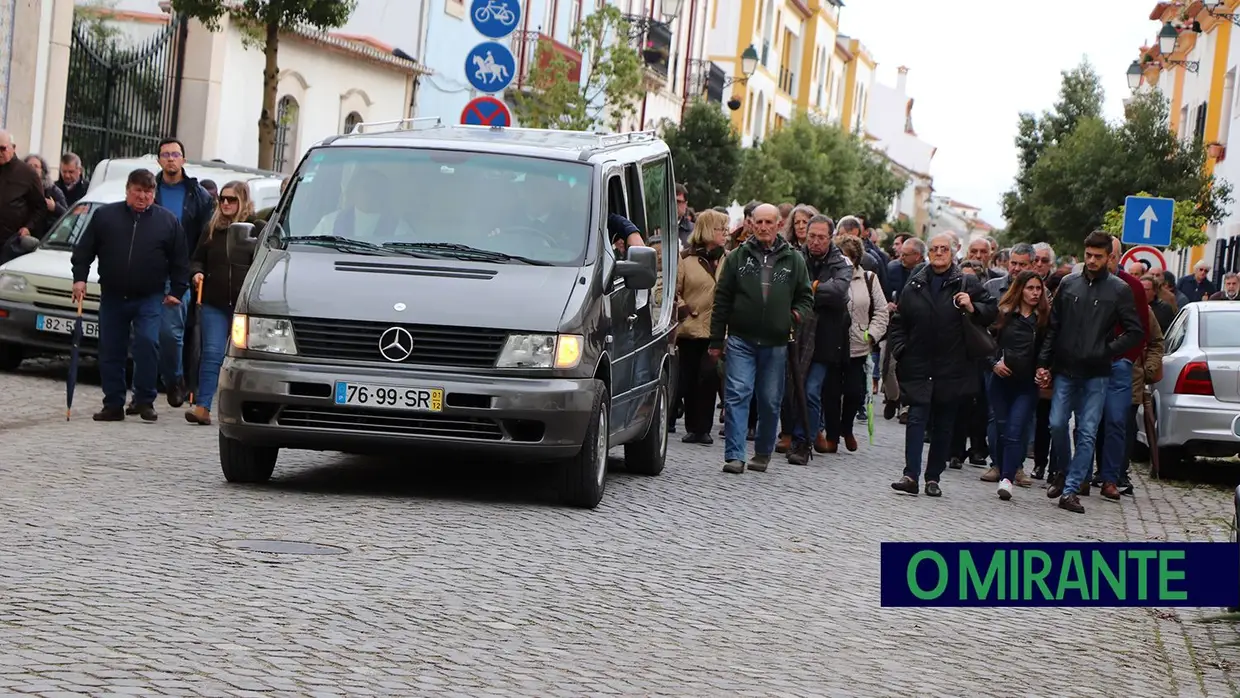
[[[577,265],[589,239],[590,175],[580,162],[492,152],[325,148],[303,162],[280,234]]]

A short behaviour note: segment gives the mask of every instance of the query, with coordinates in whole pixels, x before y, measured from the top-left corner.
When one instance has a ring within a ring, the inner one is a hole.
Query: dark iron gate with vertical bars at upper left
[[[125,46],[122,32],[76,20],[64,98],[64,151],[87,172],[108,157],[153,154],[176,134],[188,22],[174,16],[155,36]]]

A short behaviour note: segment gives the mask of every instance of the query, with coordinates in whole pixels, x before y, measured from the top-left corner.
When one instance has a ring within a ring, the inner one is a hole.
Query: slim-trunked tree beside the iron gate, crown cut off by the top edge
[[[258,117],[258,166],[270,170],[275,162],[275,100],[280,67],[280,32],[309,26],[329,30],[342,26],[353,14],[357,0],[172,0],[176,12],[193,17],[211,31],[219,29],[227,12],[263,48],[263,108]]]

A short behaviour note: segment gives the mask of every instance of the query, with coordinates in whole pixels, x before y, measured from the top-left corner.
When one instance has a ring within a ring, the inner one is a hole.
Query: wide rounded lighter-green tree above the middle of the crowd
[[[801,115],[745,152],[733,196],[808,203],[828,216],[864,216],[879,226],[904,186],[858,136]]]

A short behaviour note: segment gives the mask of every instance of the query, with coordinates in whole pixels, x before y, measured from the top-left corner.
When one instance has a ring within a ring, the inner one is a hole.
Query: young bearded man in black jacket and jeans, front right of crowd
[[[1047,496],[1059,497],[1060,508],[1076,513],[1085,511],[1078,495],[1094,462],[1115,357],[1145,338],[1132,289],[1109,270],[1112,239],[1101,231],[1085,238],[1085,270],[1059,284],[1050,306],[1050,329],[1038,357],[1039,387],[1052,387],[1054,374],[1052,448],[1069,462],[1066,476],[1047,487]],[[1075,454],[1069,433],[1074,415]]]

